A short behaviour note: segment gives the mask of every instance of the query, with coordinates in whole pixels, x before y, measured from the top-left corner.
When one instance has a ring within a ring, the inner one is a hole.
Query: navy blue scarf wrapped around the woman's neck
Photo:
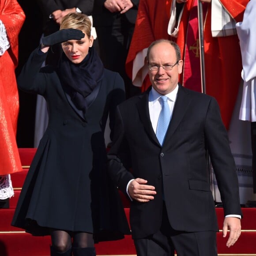
[[[86,97],[96,88],[102,80],[104,67],[94,47],[89,48],[89,53],[79,64],[68,60],[62,53],[58,65],[58,73],[62,80],[71,90],[68,94],[78,109],[84,112],[87,109]]]

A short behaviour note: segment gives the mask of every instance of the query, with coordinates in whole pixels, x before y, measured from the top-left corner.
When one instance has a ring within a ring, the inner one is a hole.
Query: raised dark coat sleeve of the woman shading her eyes
[[[40,46],[30,54],[17,79],[19,89],[34,94],[45,94],[46,77],[41,65],[46,56],[47,53],[41,52]]]

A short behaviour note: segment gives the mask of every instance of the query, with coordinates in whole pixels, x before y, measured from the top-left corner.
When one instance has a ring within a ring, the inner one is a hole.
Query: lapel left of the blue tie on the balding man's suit
[[[148,94],[151,90],[151,87],[148,88],[148,90],[146,91],[145,94],[143,94],[141,97],[141,100],[137,103],[137,109],[139,112],[139,117],[140,120],[142,122],[142,124],[144,125],[145,131],[147,132],[148,136],[150,136],[155,143],[157,143],[158,145],[158,139],[154,133],[152,124],[151,124],[151,120],[150,120],[150,116],[149,116],[149,107],[148,107]]]

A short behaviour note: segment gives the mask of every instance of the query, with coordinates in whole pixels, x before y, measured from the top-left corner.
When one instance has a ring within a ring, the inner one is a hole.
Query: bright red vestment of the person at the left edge
[[[10,43],[0,56],[0,175],[22,170],[16,143],[19,95],[15,77],[18,64],[18,35],[25,14],[16,0],[0,1],[0,20]]]

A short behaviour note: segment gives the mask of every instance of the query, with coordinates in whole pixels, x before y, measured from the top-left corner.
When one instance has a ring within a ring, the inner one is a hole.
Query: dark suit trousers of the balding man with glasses
[[[134,239],[137,256],[217,256],[216,232],[182,232],[169,224],[163,202],[162,225],[157,233]]]

